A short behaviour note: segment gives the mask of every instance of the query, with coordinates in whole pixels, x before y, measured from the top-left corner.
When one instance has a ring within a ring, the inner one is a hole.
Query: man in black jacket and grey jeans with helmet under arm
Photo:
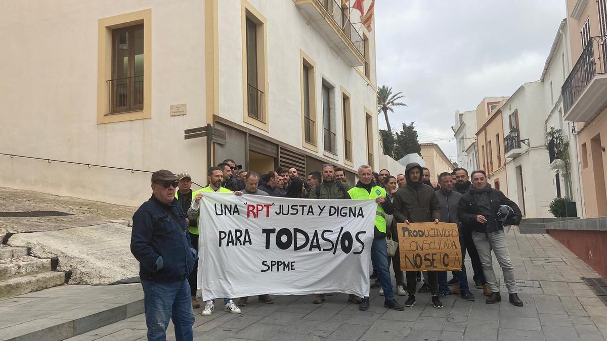
[[[518,225],[522,214],[517,204],[506,198],[506,195],[497,189],[487,187],[487,174],[483,170],[475,170],[472,172],[472,188],[459,199],[459,220],[472,230],[472,240],[481,258],[485,279],[491,289],[491,295],[485,302],[492,304],[501,301],[500,285],[493,272],[491,258],[491,250],[493,250],[504,274],[504,282],[506,282],[506,288],[510,294],[510,303],[515,306],[523,306],[515,288],[514,268],[510,261],[510,251],[506,245],[504,226],[497,216],[501,205],[510,206],[514,215],[512,219],[514,225]]]

